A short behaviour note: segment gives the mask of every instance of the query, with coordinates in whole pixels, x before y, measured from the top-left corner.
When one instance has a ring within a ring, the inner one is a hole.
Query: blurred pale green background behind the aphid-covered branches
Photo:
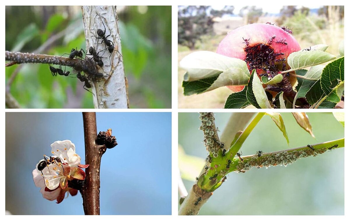
[[[241,113],[243,114],[243,113]],[[224,130],[230,113],[215,113],[215,124]],[[344,127],[332,113],[308,113],[316,139],[304,131],[291,113],[281,113],[290,146],[269,116],[264,116],[244,142],[243,155],[256,151],[273,152],[322,143],[344,137]],[[202,158],[207,151],[198,113],[179,113],[179,147],[187,155]],[[219,132],[220,135],[220,132]],[[202,143],[202,144],[201,144]],[[181,157],[179,158],[179,163]],[[188,169],[191,169],[188,167]],[[189,190],[193,181],[183,180]],[[344,148],[292,165],[252,168],[246,173],[228,174],[227,181],[205,203],[200,215],[343,215],[344,214]]]

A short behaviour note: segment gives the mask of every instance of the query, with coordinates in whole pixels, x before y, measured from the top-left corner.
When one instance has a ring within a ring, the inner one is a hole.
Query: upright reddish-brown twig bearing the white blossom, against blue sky
[[[83,112],[84,138],[85,138],[85,185],[80,193],[83,197],[85,215],[100,214],[100,165],[102,155],[106,152],[106,146],[96,145],[97,138],[95,112]]]

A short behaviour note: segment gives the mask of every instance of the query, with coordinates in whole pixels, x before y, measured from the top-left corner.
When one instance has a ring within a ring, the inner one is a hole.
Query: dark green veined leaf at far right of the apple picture
[[[321,75],[321,88],[326,95],[341,81],[344,81],[344,56],[329,63]]]

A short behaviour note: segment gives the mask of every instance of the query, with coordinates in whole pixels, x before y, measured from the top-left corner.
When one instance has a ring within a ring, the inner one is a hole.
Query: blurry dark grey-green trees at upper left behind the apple
[[[179,44],[195,49],[201,36],[214,34],[214,18],[233,14],[233,6],[215,10],[211,6],[179,6],[177,41]]]

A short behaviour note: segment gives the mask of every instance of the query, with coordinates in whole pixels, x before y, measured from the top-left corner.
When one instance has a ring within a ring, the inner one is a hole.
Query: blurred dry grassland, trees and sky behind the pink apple
[[[179,6],[178,61],[195,51],[216,52],[227,32],[249,23],[271,22],[293,30],[301,49],[326,44],[326,52],[339,56],[344,40],[344,6]],[[220,87],[198,95],[183,95],[185,70],[178,68],[179,108],[223,108],[232,91]]]

